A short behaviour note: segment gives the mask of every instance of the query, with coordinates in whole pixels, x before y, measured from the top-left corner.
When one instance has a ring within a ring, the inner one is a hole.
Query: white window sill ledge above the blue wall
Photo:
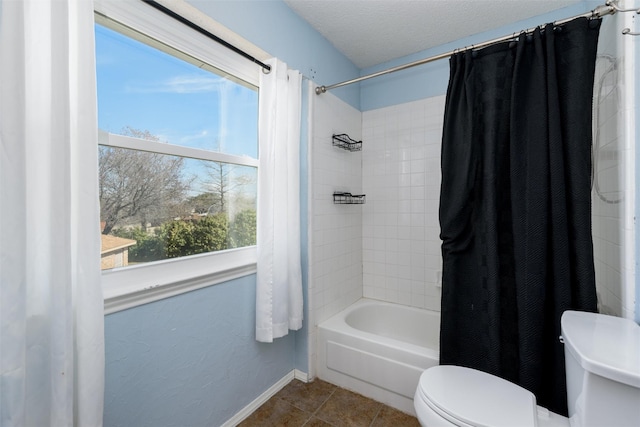
[[[255,274],[256,257],[256,247],[251,246],[105,271],[104,312],[115,313]]]

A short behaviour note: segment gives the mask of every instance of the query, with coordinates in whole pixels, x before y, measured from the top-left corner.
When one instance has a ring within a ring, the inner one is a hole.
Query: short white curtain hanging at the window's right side
[[[300,114],[302,77],[277,59],[260,80],[256,339],[302,327]]]

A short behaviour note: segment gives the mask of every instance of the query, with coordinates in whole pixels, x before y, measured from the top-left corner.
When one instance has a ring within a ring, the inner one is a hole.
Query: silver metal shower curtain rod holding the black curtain
[[[565,23],[567,23],[569,21],[573,21],[574,19],[577,19],[577,18],[600,18],[600,17],[606,16],[606,15],[613,15],[616,12],[630,12],[630,11],[632,11],[632,10],[630,10],[630,9],[629,10],[620,9],[615,4],[614,1],[608,0],[606,4],[600,5],[600,6],[596,7],[595,9],[593,9],[590,12],[583,13],[582,15],[572,16],[571,18],[562,19],[560,21],[554,21],[554,25],[565,24]],[[636,12],[636,13],[640,13],[640,10],[635,10],[634,9],[633,11]],[[496,39],[488,40],[486,42],[482,42],[482,43],[479,43],[479,44],[474,44],[474,45],[467,46],[467,47],[464,47],[464,48],[461,48],[461,49],[455,49],[455,50],[452,50],[452,51],[449,51],[449,52],[441,53],[439,55],[430,56],[429,58],[419,59],[419,60],[417,60],[415,62],[410,62],[410,63],[404,64],[404,65],[398,65],[397,67],[389,68],[389,69],[383,70],[383,71],[378,71],[377,73],[367,74],[366,76],[358,77],[356,79],[346,80],[344,82],[332,84],[332,85],[329,85],[329,86],[318,86],[316,88],[316,94],[317,95],[321,95],[321,94],[323,94],[323,93],[325,93],[325,92],[327,92],[328,90],[331,90],[331,89],[336,89],[336,88],[339,88],[339,87],[342,87],[342,86],[350,85],[352,83],[358,83],[358,82],[361,82],[363,80],[372,79],[374,77],[379,77],[379,76],[383,76],[385,74],[395,73],[396,71],[406,70],[407,68],[412,68],[412,67],[416,67],[418,65],[427,64],[429,62],[437,61],[439,59],[444,59],[444,58],[452,56],[453,54],[458,53],[458,52],[464,52],[464,51],[469,50],[469,49],[480,49],[480,48],[483,48],[483,47],[490,46],[492,44],[496,44],[496,43],[500,43],[500,42],[508,41],[508,40],[513,40],[513,39],[518,38],[518,36],[520,34],[522,34],[522,33],[528,34],[528,33],[532,33],[534,30],[535,30],[535,28],[530,28],[528,30],[521,31],[519,33],[512,33],[512,34],[509,34],[509,35],[506,35],[506,36],[503,36],[503,37],[499,37],[499,38],[496,38]]]

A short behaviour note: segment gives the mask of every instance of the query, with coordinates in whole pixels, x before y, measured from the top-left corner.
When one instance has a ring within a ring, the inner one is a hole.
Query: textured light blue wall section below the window
[[[293,369],[255,340],[255,275],[105,318],[104,425],[217,426]]]

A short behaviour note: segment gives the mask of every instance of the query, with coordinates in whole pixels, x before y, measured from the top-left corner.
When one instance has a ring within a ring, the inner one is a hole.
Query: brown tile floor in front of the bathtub
[[[258,408],[240,427],[407,426],[415,417],[375,400],[316,379],[293,380]]]

